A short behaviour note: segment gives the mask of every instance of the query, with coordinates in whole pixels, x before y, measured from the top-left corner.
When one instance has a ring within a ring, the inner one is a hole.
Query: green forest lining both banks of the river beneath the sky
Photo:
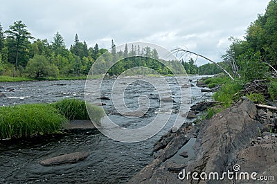
[[[232,44],[222,55],[220,66],[229,71],[233,77],[244,77],[247,80],[266,77],[271,72],[276,73],[277,66],[277,1],[269,2],[265,15],[258,15],[246,30],[244,39],[230,37]],[[92,64],[105,53],[107,49],[96,44],[88,48],[87,43],[80,42],[75,35],[73,44],[66,48],[60,33],[53,35],[53,40],[35,39],[22,21],[15,21],[8,30],[3,30],[0,24],[0,75],[13,77],[79,77],[89,73]],[[140,55],[139,57],[135,57]],[[128,57],[126,59],[126,57]],[[125,58],[125,59],[123,59]],[[211,75],[222,73],[213,63],[197,66],[196,61],[159,62],[157,50],[149,47],[132,46],[124,50],[116,50],[111,40],[111,51],[102,58],[102,63],[120,60],[108,71],[109,75],[120,75],[128,68],[145,66],[162,75],[172,74],[170,69],[179,68],[181,63],[188,74]],[[215,61],[217,62],[217,61]],[[170,67],[172,66],[172,67]],[[179,69],[177,73],[184,73]]]

